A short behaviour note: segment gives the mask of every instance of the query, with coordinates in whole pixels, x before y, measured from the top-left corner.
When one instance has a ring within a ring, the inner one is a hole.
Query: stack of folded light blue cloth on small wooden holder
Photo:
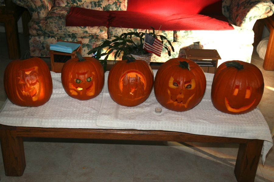
[[[72,42],[62,42],[59,41],[56,44],[50,44],[50,50],[72,53],[77,49],[81,44],[72,43]]]

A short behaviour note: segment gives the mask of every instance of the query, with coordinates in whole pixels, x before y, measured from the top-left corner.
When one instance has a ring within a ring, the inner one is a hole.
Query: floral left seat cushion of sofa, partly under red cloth
[[[55,6],[47,17],[31,19],[29,26],[30,35],[107,39],[106,26],[66,26],[65,17],[70,7]]]

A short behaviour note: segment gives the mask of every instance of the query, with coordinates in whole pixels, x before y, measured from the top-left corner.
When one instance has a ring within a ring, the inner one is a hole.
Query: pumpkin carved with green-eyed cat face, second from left
[[[101,63],[91,57],[82,57],[65,62],[61,71],[61,80],[66,93],[79,100],[96,97],[104,86],[104,69]]]

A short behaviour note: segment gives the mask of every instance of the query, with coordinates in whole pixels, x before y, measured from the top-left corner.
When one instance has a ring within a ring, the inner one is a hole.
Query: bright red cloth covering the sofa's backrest
[[[222,0],[128,0],[127,11],[160,14],[222,15]]]

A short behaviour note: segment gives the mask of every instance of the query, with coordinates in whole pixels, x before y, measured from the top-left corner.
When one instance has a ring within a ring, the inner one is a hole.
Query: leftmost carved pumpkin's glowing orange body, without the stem
[[[9,100],[18,106],[41,106],[51,97],[51,73],[38,57],[13,60],[4,72],[4,88]]]

